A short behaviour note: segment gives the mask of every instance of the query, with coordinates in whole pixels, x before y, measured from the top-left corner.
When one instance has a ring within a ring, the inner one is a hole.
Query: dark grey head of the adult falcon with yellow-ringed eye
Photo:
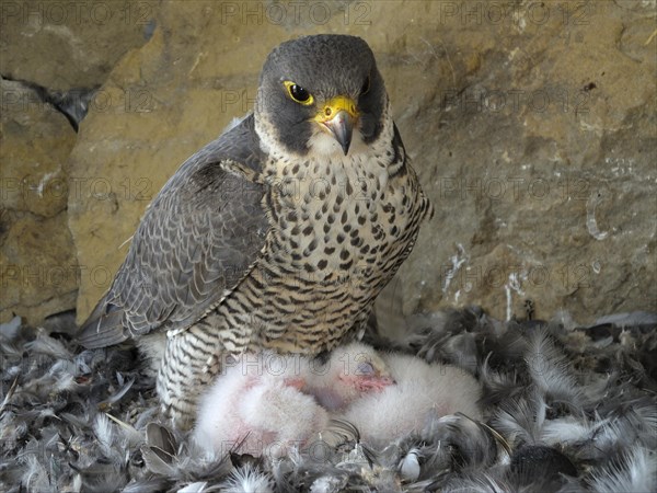
[[[276,140],[288,151],[306,154],[321,140],[318,147],[325,150],[337,142],[347,154],[353,139],[370,144],[379,137],[387,104],[367,43],[322,34],[283,43],[269,54],[255,117],[273,125]]]

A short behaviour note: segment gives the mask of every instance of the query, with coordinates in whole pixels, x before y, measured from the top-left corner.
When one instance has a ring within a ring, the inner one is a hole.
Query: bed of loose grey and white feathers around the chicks
[[[657,491],[657,316],[577,326],[479,308],[416,314],[365,342],[459,366],[484,419],[436,416],[390,444],[348,423],[322,457],[201,452],[159,416],[134,347],[81,351],[72,314],[0,326],[0,490],[7,492]],[[458,389],[454,389],[458,392]]]

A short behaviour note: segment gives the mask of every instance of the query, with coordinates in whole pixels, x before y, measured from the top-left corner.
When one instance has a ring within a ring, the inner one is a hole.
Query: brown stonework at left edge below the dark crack
[[[76,133],[20,83],[1,81],[0,323],[76,307],[78,264],[65,169]]]

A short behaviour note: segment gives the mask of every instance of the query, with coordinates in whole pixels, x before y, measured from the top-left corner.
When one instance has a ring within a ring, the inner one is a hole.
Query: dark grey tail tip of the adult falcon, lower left
[[[78,333],[78,343],[88,349],[112,346],[127,340],[123,325],[124,311],[107,305],[103,298],[93,309]]]

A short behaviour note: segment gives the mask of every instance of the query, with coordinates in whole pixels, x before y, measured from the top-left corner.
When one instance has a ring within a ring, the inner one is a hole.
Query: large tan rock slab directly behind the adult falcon
[[[79,320],[166,179],[252,107],[270,48],[323,32],[371,45],[436,207],[388,298],[405,312],[477,303],[509,318],[531,306],[581,322],[657,309],[655,1],[137,3],[127,22],[95,25],[117,42],[90,61],[106,70],[67,72],[64,85],[102,83],[66,165],[74,250],[61,248],[78,262]],[[24,33],[30,19],[2,22]],[[37,79],[21,61],[20,37],[1,39],[16,60],[3,77],[61,90],[59,74]],[[37,305],[24,287],[11,291]],[[3,318],[8,306],[3,297]]]

